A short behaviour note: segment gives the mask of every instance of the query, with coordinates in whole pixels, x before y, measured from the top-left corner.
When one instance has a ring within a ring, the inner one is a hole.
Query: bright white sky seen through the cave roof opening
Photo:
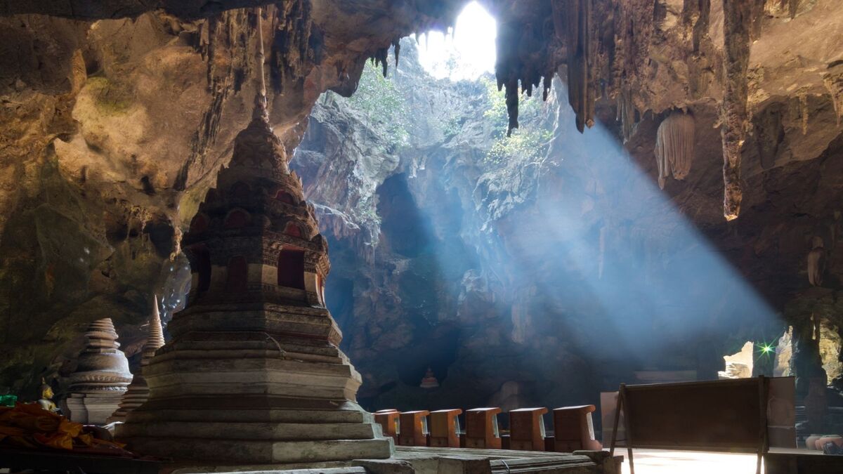
[[[476,79],[495,69],[495,19],[476,2],[465,6],[451,35],[420,35],[419,61],[434,78]]]

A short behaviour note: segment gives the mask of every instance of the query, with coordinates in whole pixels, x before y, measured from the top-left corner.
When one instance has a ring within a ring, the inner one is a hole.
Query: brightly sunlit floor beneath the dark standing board
[[[771,450],[774,453],[821,455],[819,451]],[[623,455],[623,474],[630,474],[626,450],[615,450]],[[756,455],[709,453],[700,451],[635,450],[633,452],[636,474],[754,474]],[[762,471],[763,472],[763,471]]]

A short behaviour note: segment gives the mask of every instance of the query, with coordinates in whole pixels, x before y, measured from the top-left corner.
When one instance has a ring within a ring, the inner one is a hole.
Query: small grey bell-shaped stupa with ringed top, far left
[[[102,424],[111,416],[132,382],[129,360],[118,349],[117,332],[110,319],[95,320],[85,334],[76,371],[68,377],[63,409],[72,421]]]

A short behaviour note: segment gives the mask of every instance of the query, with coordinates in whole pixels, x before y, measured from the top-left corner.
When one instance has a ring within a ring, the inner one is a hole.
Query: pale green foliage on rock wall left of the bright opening
[[[380,67],[367,62],[357,91],[349,103],[366,115],[368,125],[385,130],[384,137],[389,140],[391,148],[389,151],[394,152],[410,144],[410,133],[407,132],[409,107],[392,79],[384,78]]]

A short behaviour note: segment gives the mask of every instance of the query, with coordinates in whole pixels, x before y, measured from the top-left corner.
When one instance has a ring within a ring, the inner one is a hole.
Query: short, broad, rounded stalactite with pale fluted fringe
[[[675,110],[658,126],[656,135],[656,163],[658,187],[664,189],[664,180],[670,175],[684,180],[694,159],[694,117]]]

